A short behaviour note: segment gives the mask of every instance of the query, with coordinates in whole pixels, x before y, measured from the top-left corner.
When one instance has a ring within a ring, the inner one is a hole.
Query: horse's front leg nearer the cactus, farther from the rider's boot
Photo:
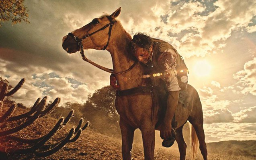
[[[120,129],[122,134],[123,160],[131,160],[133,149],[134,128],[127,124],[120,116]]]

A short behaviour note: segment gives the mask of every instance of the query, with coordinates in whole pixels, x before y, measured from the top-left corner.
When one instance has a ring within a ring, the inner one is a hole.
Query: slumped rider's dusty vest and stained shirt
[[[169,91],[186,90],[188,69],[177,50],[167,42],[152,38],[153,55],[150,58],[154,68],[164,75],[161,77]]]

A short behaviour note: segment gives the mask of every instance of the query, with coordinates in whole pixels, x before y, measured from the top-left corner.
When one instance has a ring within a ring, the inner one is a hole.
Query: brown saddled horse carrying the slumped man
[[[120,90],[139,87],[143,84],[143,66],[135,63],[135,58],[129,53],[131,36],[123,29],[121,23],[116,20],[121,13],[121,7],[111,15],[95,18],[82,28],[72,31],[63,37],[62,47],[68,53],[83,49],[106,49],[110,52],[113,62],[113,71],[116,75]],[[86,59],[86,58],[84,58]],[[89,60],[90,61],[90,60]],[[125,72],[122,72],[125,71]],[[180,151],[180,160],[186,156],[186,143],[182,135],[183,125],[187,120],[193,125],[192,149],[195,154],[197,142],[207,160],[207,148],[203,130],[203,111],[199,95],[195,88],[188,85],[187,105],[178,103],[176,110],[176,141]],[[159,117],[160,106],[153,105],[151,92],[136,93],[125,96],[116,96],[115,106],[120,114],[120,128],[122,134],[123,160],[131,160],[134,130],[141,130],[145,160],[154,159],[155,129],[159,130],[161,124],[156,126]],[[154,112],[152,112],[152,107]],[[197,139],[198,137],[198,139]]]

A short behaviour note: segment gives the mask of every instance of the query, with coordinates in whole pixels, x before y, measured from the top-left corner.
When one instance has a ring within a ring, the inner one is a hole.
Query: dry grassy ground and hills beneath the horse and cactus
[[[2,111],[5,112],[6,108]],[[21,114],[27,112],[24,108],[17,108],[15,114]],[[2,112],[3,113],[3,112]],[[0,113],[1,114],[1,113]],[[15,115],[14,114],[14,115]],[[38,138],[45,135],[55,125],[57,119],[52,118],[51,115],[45,116],[36,120],[28,128],[16,133],[20,137],[26,138]],[[19,122],[20,123],[20,122]],[[70,128],[75,126],[74,124],[68,124],[60,130],[50,142],[56,142],[59,137],[64,137]],[[92,122],[92,125],[94,123]],[[1,130],[1,128],[0,128]],[[187,134],[186,134],[187,135]],[[186,138],[185,138],[186,140]],[[161,146],[162,140],[159,138],[159,133],[156,132],[156,145],[155,145],[155,159],[156,160],[178,160],[179,152],[175,142],[171,148],[164,148]],[[24,147],[24,144],[20,144],[14,141],[0,142],[3,146],[9,148]],[[190,146],[187,142],[187,160],[190,160]],[[26,155],[9,155],[9,160],[121,160],[121,138],[119,136],[107,136],[100,134],[93,129],[86,128],[82,132],[80,138],[73,143],[67,144],[61,150],[55,154],[47,157],[36,157],[34,154]],[[255,148],[256,141],[223,141],[217,143],[207,144],[208,158],[209,160],[251,160],[256,159]],[[0,157],[2,159],[2,157]],[[6,159],[6,158],[5,158]],[[141,140],[141,134],[139,130],[135,131],[135,140],[133,145],[133,160],[143,160],[143,145]],[[201,160],[202,156],[200,151],[197,153],[196,160]]]

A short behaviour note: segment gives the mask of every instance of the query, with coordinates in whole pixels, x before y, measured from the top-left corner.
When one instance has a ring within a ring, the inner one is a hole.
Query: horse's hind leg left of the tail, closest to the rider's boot
[[[183,126],[180,126],[180,128],[176,129],[176,141],[178,143],[179,151],[180,151],[180,160],[185,160],[186,158],[186,142],[184,141],[182,129]]]

